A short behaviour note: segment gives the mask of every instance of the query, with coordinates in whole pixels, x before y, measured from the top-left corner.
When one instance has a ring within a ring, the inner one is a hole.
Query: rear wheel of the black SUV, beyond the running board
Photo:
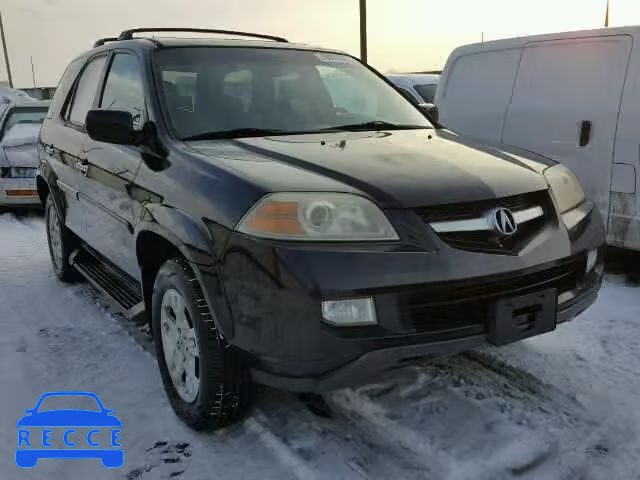
[[[49,195],[44,210],[44,218],[47,225],[47,242],[49,244],[49,258],[51,267],[56,277],[63,282],[71,283],[80,279],[78,271],[69,263],[69,256],[79,246],[78,238],[64,225],[58,210],[53,203],[53,197]],[[53,222],[58,222],[57,228]],[[56,243],[59,241],[59,246]],[[59,254],[54,250],[59,248]]]

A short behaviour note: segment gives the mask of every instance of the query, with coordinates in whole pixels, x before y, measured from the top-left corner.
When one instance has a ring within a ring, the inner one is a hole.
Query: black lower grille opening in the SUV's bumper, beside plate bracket
[[[429,285],[405,294],[405,318],[419,332],[469,330],[481,333],[499,299],[555,288],[576,288],[581,264],[575,259],[533,273],[500,275]]]

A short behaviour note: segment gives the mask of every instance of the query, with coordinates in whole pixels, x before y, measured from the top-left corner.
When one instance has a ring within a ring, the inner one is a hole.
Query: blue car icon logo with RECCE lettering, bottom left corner
[[[85,401],[93,399],[97,409],[42,408],[42,403],[52,397],[63,401],[78,397]],[[95,393],[45,393],[36,406],[25,410],[25,413],[16,423],[18,467],[33,468],[41,458],[94,458],[100,459],[107,468],[118,468],[124,463],[124,450],[120,444],[122,422],[114,415],[113,410],[104,407]],[[64,448],[57,448],[58,445],[54,448],[54,441]]]

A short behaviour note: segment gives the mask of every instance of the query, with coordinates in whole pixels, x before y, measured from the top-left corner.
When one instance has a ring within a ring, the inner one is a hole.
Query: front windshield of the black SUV
[[[182,139],[245,134],[430,128],[401,94],[341,54],[274,48],[176,48],[156,52],[164,105]],[[249,131],[251,129],[254,131]]]

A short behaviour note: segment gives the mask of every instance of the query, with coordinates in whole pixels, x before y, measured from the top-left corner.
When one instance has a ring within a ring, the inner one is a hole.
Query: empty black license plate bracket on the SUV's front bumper
[[[487,339],[500,346],[555,330],[556,289],[499,300],[494,305]]]

